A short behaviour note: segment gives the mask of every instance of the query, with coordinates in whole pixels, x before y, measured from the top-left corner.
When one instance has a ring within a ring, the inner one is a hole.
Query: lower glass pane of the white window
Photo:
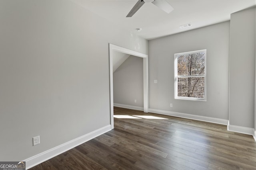
[[[204,98],[204,77],[178,78],[178,96]]]

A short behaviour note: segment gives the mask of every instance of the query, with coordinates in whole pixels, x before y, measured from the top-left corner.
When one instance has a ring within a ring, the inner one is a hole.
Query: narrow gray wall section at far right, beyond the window
[[[254,128],[255,9],[231,14],[229,124]]]

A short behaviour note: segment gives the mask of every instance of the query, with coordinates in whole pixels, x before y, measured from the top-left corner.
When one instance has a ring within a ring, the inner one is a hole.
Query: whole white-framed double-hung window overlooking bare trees
[[[206,101],[206,50],[175,54],[175,99]]]

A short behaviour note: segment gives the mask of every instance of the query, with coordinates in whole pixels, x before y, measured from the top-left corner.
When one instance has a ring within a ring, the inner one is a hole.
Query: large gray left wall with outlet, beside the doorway
[[[0,0],[0,24],[1,161],[109,125],[108,43],[148,50],[146,40],[69,0]]]

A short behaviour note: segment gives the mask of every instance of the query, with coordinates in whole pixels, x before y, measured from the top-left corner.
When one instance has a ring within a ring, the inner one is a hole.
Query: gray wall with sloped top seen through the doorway
[[[113,93],[114,103],[143,107],[142,58],[128,57],[113,73]]]

